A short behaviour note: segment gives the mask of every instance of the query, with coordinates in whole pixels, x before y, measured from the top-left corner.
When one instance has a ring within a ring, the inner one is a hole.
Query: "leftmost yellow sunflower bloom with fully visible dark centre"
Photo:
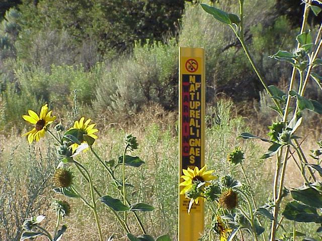
[[[51,112],[51,110],[48,111],[48,104],[45,104],[41,107],[39,116],[35,111],[31,109],[28,110],[29,115],[22,116],[25,121],[34,125],[34,128],[30,132],[22,135],[23,137],[28,136],[27,140],[30,144],[34,140],[38,142],[40,138],[44,137],[47,126],[55,121],[56,116],[51,116]]]

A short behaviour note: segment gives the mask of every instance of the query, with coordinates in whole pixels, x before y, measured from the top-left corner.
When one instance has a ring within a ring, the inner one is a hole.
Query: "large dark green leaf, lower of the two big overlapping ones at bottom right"
[[[314,222],[318,218],[315,208],[297,201],[287,203],[282,215],[297,222]]]

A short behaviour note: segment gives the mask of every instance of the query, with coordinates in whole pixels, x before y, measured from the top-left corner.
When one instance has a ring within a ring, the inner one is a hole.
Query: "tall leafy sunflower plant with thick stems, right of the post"
[[[301,140],[296,132],[305,121],[305,110],[317,114],[322,113],[322,104],[315,99],[308,98],[309,93],[306,91],[309,82],[322,90],[322,77],[318,74],[322,65],[322,60],[319,58],[322,47],[322,24],[317,32],[313,33],[307,23],[309,13],[316,16],[322,11],[322,2],[319,0],[301,1],[304,5],[304,12],[300,32],[296,37],[295,50],[293,52],[279,50],[270,56],[272,59],[285,61],[292,66],[287,92],[277,86],[267,84],[246,45],[245,2],[246,0],[238,0],[239,13],[237,14],[224,12],[216,8],[215,4],[201,4],[201,7],[206,13],[212,15],[215,21],[219,21],[232,30],[274,103],[270,107],[276,111],[278,117],[268,127],[268,138],[257,137],[250,133],[239,135],[240,139],[258,139],[270,145],[261,158],[275,158],[274,182],[271,199],[260,205],[244,169],[245,155],[239,148],[235,148],[228,155],[228,161],[235,168],[240,168],[244,175],[243,183],[230,176],[224,176],[212,181],[198,194],[206,198],[213,211],[212,225],[208,238],[205,240],[217,240],[215,234],[219,234],[221,241],[234,238],[245,240],[246,235],[250,235],[251,239],[256,241],[260,239],[295,240],[297,236],[303,237],[303,240],[315,240],[308,237],[306,233],[296,230],[296,223],[322,223],[320,215],[322,184],[317,179],[317,175],[322,176],[320,165],[322,145],[318,142],[318,148],[311,150],[311,155],[306,156],[302,148],[305,139]],[[285,187],[287,167],[291,161],[294,161],[303,178],[303,185],[298,188]],[[287,230],[284,223],[292,224],[292,230]],[[316,233],[321,231],[322,228],[319,226]]]

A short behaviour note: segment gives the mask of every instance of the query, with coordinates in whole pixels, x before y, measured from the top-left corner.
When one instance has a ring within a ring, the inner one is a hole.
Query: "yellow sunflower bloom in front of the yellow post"
[[[199,184],[204,183],[205,186],[210,184],[210,181],[213,179],[216,179],[215,176],[212,175],[214,170],[209,170],[206,171],[207,165],[205,165],[203,168],[199,170],[198,167],[195,167],[194,170],[190,169],[182,169],[184,175],[181,176],[182,179],[184,179],[183,182],[179,184],[179,186],[184,186],[184,188],[181,190],[180,194],[186,194],[189,192],[189,190],[194,186],[194,184]],[[194,199],[196,204],[199,202],[199,197]]]

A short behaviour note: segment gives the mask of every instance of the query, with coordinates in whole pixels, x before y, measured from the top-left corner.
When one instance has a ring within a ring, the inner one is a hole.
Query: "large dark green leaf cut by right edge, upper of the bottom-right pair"
[[[293,199],[315,208],[322,208],[322,195],[314,188],[294,189],[291,192]]]

